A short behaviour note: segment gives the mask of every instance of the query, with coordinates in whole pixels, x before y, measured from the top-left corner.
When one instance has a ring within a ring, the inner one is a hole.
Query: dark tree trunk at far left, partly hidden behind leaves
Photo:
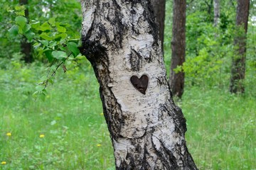
[[[28,0],[19,0],[19,4],[26,6],[25,17],[28,18],[29,17],[28,6],[27,6]],[[23,36],[21,38],[21,52],[23,53],[22,60],[24,60],[26,63],[33,62],[32,50],[33,50],[33,47],[31,42],[28,42],[28,39],[25,36]]]

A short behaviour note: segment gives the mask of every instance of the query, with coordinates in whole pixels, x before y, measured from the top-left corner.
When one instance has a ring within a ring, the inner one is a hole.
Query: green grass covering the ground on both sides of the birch
[[[65,74],[60,70],[46,101],[35,101],[31,94],[44,72],[40,65],[18,62],[0,69],[0,162],[6,162],[0,169],[114,169],[90,64],[70,66]],[[247,94],[231,95],[225,89],[186,87],[177,103],[199,169],[256,169],[253,90],[250,84]]]

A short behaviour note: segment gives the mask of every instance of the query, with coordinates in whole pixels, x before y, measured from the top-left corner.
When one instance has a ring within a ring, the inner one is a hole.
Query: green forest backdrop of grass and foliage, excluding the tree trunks
[[[175,100],[187,120],[188,149],[198,169],[256,169],[256,2],[250,3],[245,94],[229,92],[236,1],[221,1],[218,28],[213,1],[187,4],[185,89]],[[167,75],[172,5],[166,1]],[[21,52],[23,30],[15,27],[23,23],[17,16],[24,7],[4,0],[0,6],[0,169],[114,169],[97,80],[74,47],[80,40],[79,1],[28,1],[28,21],[35,30],[27,35],[35,49],[29,64]],[[73,53],[56,73],[61,61],[49,66],[55,56],[46,50],[52,40],[59,47],[67,43]],[[46,89],[37,85],[46,80]]]

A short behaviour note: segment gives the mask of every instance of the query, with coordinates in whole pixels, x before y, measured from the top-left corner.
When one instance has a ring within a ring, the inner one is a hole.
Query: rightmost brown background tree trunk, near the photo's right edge
[[[244,93],[245,86],[245,57],[246,57],[246,35],[249,17],[250,0],[238,0],[236,26],[238,33],[235,34],[235,55],[232,59],[230,92]]]

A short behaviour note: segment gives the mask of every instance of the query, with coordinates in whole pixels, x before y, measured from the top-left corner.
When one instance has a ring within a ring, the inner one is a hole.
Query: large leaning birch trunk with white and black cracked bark
[[[196,169],[166,81],[149,0],[81,0],[81,52],[95,70],[116,169]]]

